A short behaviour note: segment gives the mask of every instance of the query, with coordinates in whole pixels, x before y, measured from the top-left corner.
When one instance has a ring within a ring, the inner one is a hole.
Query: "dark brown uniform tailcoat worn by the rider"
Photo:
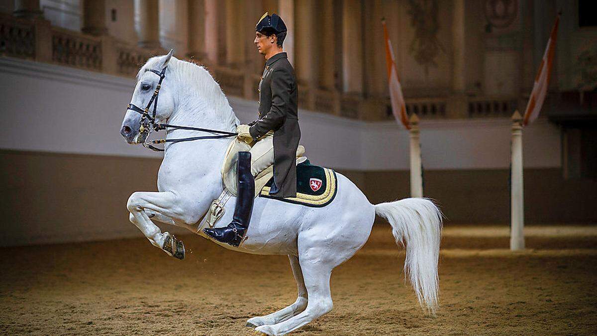
[[[286,53],[275,54],[265,63],[259,83],[259,119],[249,124],[255,140],[273,130],[273,196],[296,196],[296,152],[300,140],[297,102],[293,66]]]

